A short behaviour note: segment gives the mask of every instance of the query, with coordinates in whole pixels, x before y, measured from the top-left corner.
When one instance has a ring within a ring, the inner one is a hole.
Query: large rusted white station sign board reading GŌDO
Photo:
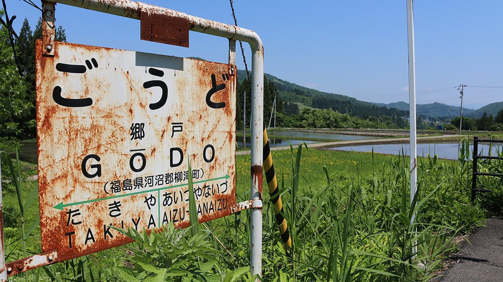
[[[58,260],[130,242],[111,229],[189,224],[235,203],[235,76],[228,65],[37,42],[42,250]]]

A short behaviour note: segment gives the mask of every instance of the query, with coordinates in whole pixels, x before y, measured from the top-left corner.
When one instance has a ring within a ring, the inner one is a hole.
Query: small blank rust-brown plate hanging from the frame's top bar
[[[189,28],[188,19],[141,12],[141,40],[189,47]]]

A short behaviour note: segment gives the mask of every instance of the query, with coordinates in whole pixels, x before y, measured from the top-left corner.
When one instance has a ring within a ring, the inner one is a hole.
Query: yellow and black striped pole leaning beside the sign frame
[[[278,188],[278,180],[274,172],[273,156],[271,155],[271,148],[269,147],[269,138],[267,137],[266,126],[264,125],[264,172],[266,173],[267,186],[269,187],[269,195],[271,202],[274,204],[274,213],[276,216],[276,223],[281,233],[281,240],[287,246],[287,249],[292,248],[292,238],[288,232],[288,225],[286,219],[283,217],[283,203],[281,202],[280,191]]]

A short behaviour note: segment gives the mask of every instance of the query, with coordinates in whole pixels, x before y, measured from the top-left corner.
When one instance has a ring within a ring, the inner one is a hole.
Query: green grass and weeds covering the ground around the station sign
[[[281,239],[278,210],[264,182],[261,279],[428,281],[456,250],[457,238],[483,225],[487,216],[502,213],[499,179],[480,177],[479,187],[493,193],[470,203],[471,161],[464,148],[458,160],[418,160],[413,203],[408,157],[302,145],[273,151],[282,215],[293,246],[286,247]],[[249,198],[249,158],[236,156],[238,201]],[[36,167],[14,160],[13,169],[23,181],[3,185],[7,261],[41,251],[37,183],[29,180]],[[503,164],[491,161],[480,164],[479,170],[501,172]],[[252,281],[248,222],[249,213],[242,211],[197,229],[171,225],[150,235],[123,231],[138,242],[21,273],[12,280]]]

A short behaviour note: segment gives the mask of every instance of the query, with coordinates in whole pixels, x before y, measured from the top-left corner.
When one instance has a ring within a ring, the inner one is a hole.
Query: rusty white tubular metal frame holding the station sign
[[[42,42],[44,56],[54,56],[55,5],[56,3],[85,8],[107,14],[141,20],[142,14],[158,15],[188,22],[189,30],[229,40],[229,75],[235,75],[235,43],[247,42],[251,48],[251,179],[250,200],[230,207],[232,213],[251,209],[250,216],[250,270],[259,281],[262,276],[262,139],[263,139],[263,103],[264,103],[264,46],[260,37],[251,30],[227,25],[182,12],[161,8],[130,0],[46,0],[42,1]],[[182,31],[180,31],[182,32]],[[184,44],[178,44],[184,45]],[[187,42],[188,45],[188,42]],[[0,175],[1,179],[1,175]],[[57,252],[47,252],[30,256],[18,261],[5,263],[2,186],[0,184],[0,282],[11,276],[36,267],[57,262]]]

